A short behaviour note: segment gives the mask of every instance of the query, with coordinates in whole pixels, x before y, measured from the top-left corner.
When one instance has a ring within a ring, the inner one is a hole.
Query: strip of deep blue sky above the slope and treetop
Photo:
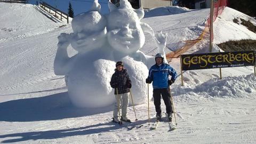
[[[28,0],[30,4],[39,3],[39,0]],[[86,12],[91,8],[93,0],[44,0],[44,2],[50,4],[53,7],[57,7],[63,12],[68,12],[68,4],[71,2],[74,14],[77,15],[82,12]],[[99,0],[101,5],[101,12],[103,14],[108,13],[108,0]]]

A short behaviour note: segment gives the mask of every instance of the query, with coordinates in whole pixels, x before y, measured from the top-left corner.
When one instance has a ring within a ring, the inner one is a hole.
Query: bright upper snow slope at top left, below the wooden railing
[[[0,3],[0,7],[0,12],[3,13],[0,22],[1,43],[48,33],[60,26],[67,25],[59,20],[52,21],[45,17],[43,12],[42,14],[38,11],[41,10],[38,6]],[[53,17],[49,14],[50,16]]]

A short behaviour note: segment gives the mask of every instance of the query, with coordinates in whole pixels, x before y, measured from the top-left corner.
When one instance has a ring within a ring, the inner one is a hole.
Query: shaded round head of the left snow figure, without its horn
[[[84,53],[98,49],[106,41],[106,19],[98,12],[86,12],[72,20],[71,46]]]

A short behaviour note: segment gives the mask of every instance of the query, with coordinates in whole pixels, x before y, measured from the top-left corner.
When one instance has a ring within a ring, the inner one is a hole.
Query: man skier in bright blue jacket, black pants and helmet
[[[161,110],[161,95],[166,106],[166,113],[169,122],[172,122],[172,103],[170,94],[170,85],[174,83],[177,78],[176,71],[167,63],[164,63],[164,55],[157,53],[155,55],[156,64],[149,69],[149,75],[146,83],[150,84],[153,81],[153,98],[156,109],[156,120],[160,121],[162,118]],[[171,78],[169,79],[169,75]]]

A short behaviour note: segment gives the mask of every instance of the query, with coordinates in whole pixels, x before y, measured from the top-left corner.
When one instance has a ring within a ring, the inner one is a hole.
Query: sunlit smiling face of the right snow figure
[[[131,54],[145,43],[145,35],[137,14],[129,9],[117,9],[108,15],[108,43],[116,51]]]

